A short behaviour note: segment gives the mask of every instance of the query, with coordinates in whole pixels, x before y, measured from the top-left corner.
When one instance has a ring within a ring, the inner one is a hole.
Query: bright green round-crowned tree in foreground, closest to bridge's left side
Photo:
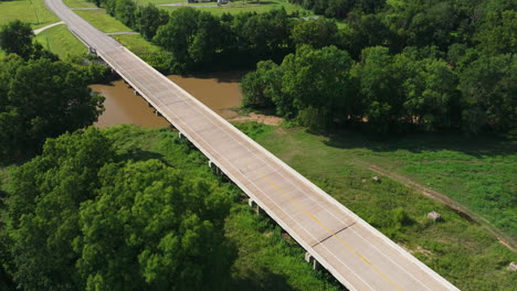
[[[84,236],[75,245],[86,290],[98,282],[98,290],[224,289],[225,193],[157,160],[112,164],[99,177],[99,196],[82,206]]]

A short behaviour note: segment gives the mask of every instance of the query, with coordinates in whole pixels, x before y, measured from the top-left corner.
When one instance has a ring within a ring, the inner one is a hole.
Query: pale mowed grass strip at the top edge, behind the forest
[[[154,3],[156,6],[159,4],[167,4],[167,3],[178,3],[178,2],[187,2],[187,1],[179,1],[179,0],[145,0],[141,3]],[[271,1],[232,1],[229,2],[225,6],[220,6],[220,7],[212,7],[217,6],[217,2],[204,2],[204,3],[196,3],[191,4],[189,7],[197,8],[202,11],[210,12],[214,15],[221,15],[223,13],[231,13],[231,14],[236,14],[236,13],[242,13],[242,12],[256,12],[256,13],[264,13],[274,9],[282,9],[284,8],[287,13],[293,13],[295,11],[298,11],[303,15],[313,15],[314,13],[312,11],[305,10],[296,4],[292,4],[287,2],[286,0],[271,0]],[[166,7],[166,6],[159,6],[160,9],[165,9],[168,11],[173,11],[177,10],[181,7]]]

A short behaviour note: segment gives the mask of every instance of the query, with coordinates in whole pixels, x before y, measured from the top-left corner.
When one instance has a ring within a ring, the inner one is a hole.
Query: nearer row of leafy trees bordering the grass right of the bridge
[[[262,62],[242,82],[244,106],[273,106],[312,129],[362,127],[507,131],[515,127],[517,56],[479,55],[453,69],[434,48],[365,48],[361,62],[334,46],[300,46],[282,65]],[[316,97],[317,96],[317,97]]]

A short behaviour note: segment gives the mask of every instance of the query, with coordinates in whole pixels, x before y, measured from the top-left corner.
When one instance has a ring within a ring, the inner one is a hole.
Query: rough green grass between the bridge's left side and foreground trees
[[[117,126],[104,130],[127,159],[159,159],[184,172],[217,180],[207,159],[166,129]],[[223,186],[239,191],[231,183]],[[336,290],[326,274],[314,272],[304,251],[265,216],[257,216],[242,200],[234,204],[225,223],[226,237],[235,246],[230,290]]]

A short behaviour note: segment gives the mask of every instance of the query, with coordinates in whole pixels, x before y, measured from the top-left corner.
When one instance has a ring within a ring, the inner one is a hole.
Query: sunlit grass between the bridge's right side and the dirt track
[[[357,133],[348,132],[345,140],[336,140],[302,129],[256,123],[238,127],[460,289],[515,290],[517,276],[507,266],[517,260],[517,254],[499,244],[481,225],[365,166],[365,163],[376,162],[379,166],[386,165],[388,155],[392,158],[390,169],[394,171],[420,159],[419,151],[398,159],[394,150],[381,150],[386,142],[371,141]],[[410,138],[403,143],[410,147],[411,141],[415,142]],[[392,142],[393,149],[401,149],[399,143]],[[424,154],[425,151],[420,152]],[[515,172],[506,172],[506,175],[511,173]],[[376,175],[381,183],[372,180]],[[428,219],[431,211],[440,213],[444,222]]]

